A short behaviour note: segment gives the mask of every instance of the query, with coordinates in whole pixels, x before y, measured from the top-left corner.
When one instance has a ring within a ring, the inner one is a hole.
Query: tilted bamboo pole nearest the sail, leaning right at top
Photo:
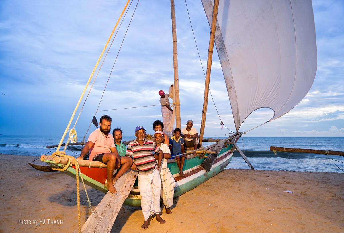
[[[207,107],[208,107],[209,81],[210,81],[210,71],[212,69],[212,59],[213,59],[213,49],[214,49],[215,29],[216,29],[216,21],[217,21],[218,2],[219,2],[219,0],[214,1],[212,26],[211,26],[211,30],[210,30],[207,72],[205,75],[204,101],[203,101],[202,121],[201,121],[200,138],[199,138],[200,144],[202,144],[204,127],[205,127],[205,117],[206,117]]]

